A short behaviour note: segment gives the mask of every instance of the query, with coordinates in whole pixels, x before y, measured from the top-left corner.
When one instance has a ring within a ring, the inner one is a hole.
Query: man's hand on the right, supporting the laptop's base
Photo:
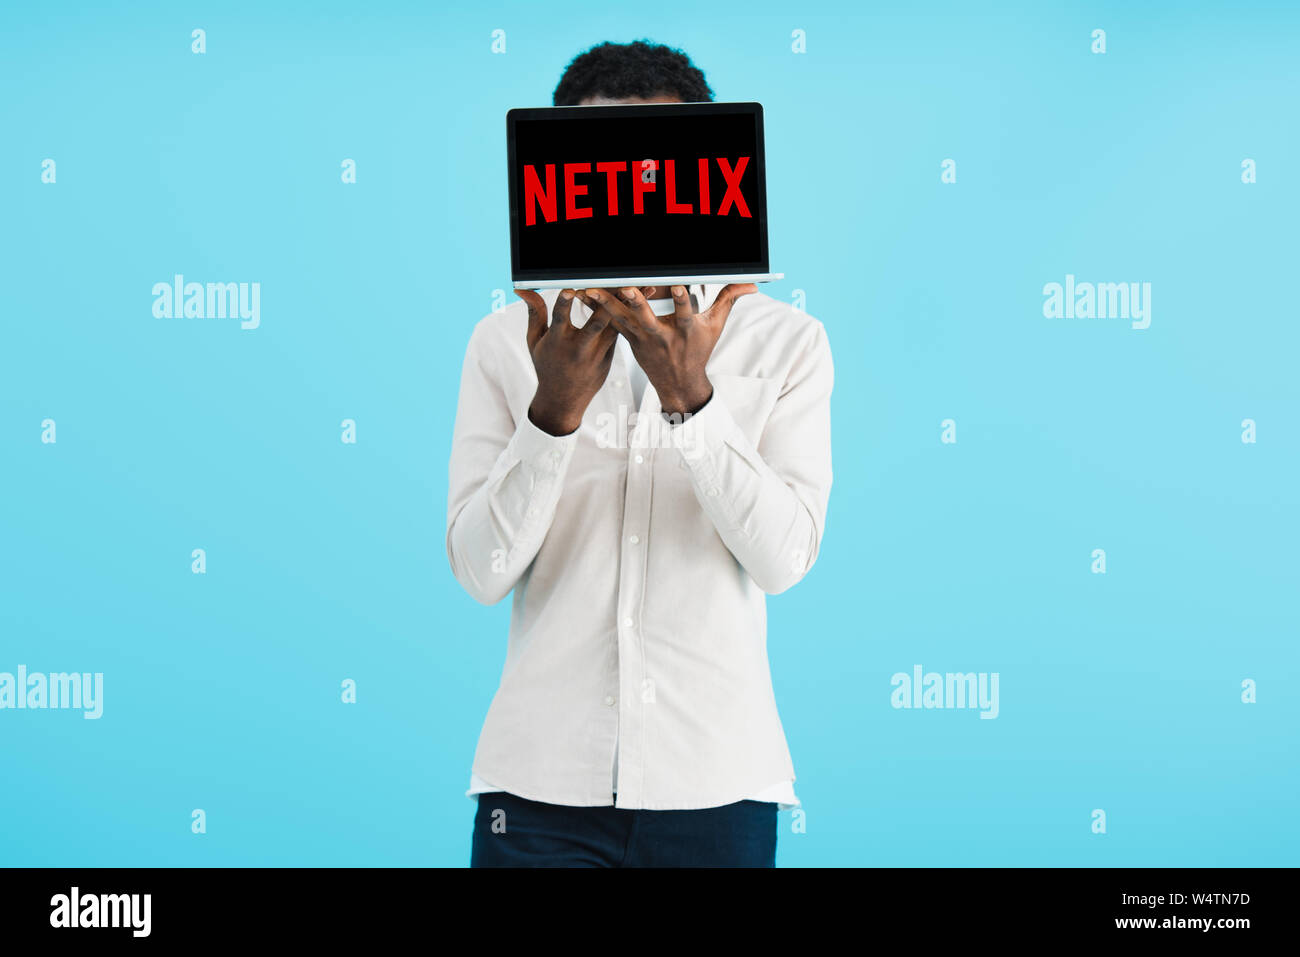
[[[618,329],[632,346],[646,378],[659,394],[666,413],[698,412],[714,395],[705,364],[718,337],[742,295],[757,293],[753,282],[724,286],[714,304],[696,312],[685,286],[672,287],[673,315],[656,316],[638,289],[589,289],[582,302],[610,328]]]

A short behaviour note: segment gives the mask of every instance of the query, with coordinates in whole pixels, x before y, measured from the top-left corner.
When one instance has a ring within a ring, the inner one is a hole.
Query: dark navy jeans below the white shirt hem
[[[478,796],[471,867],[775,867],[776,805],[689,811]]]

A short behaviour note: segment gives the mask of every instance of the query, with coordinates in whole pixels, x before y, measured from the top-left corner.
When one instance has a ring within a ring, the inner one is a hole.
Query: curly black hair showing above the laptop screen
[[[671,95],[684,103],[714,99],[703,72],[680,49],[649,40],[601,43],[573,57],[555,87],[556,107],[576,107],[589,96]]]

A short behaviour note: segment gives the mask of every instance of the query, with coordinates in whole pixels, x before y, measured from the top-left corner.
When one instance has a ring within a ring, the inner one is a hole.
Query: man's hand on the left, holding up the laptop
[[[567,436],[582,424],[582,413],[604,385],[619,334],[607,315],[593,315],[585,326],[575,329],[569,322],[572,289],[560,290],[555,298],[550,326],[542,296],[533,290],[519,290],[516,295],[528,303],[528,351],[537,369],[528,417],[542,432]]]

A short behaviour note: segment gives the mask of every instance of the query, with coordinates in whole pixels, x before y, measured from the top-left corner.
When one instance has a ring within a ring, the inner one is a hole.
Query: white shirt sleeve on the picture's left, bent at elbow
[[[551,436],[526,410],[515,421],[482,347],[469,339],[451,441],[447,484],[447,558],[460,585],[478,602],[510,594],[542,546],[577,433]]]

